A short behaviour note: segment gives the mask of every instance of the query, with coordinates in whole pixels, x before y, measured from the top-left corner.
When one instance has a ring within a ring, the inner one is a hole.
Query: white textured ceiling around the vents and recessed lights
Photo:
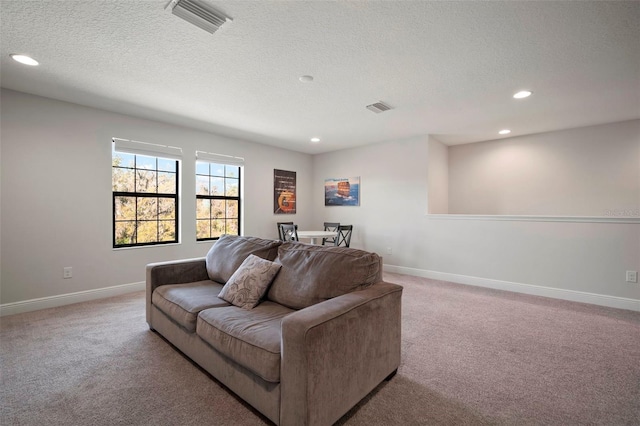
[[[0,0],[2,87],[308,153],[640,118],[640,2],[208,1],[214,35],[166,3]]]

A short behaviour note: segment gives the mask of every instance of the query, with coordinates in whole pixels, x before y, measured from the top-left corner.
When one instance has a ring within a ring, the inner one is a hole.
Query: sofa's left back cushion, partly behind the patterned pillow
[[[282,241],[257,237],[223,235],[206,257],[207,274],[213,281],[226,283],[250,254],[273,261]]]

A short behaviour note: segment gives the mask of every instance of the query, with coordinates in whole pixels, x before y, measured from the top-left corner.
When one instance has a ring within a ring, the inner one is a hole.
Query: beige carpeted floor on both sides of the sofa
[[[640,312],[385,274],[402,364],[340,425],[638,425]],[[157,334],[144,294],[0,319],[3,425],[269,422]]]

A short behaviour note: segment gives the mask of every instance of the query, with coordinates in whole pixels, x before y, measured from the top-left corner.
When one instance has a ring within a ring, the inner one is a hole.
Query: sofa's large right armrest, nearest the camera
[[[402,287],[379,282],[282,320],[280,425],[330,425],[400,365]]]

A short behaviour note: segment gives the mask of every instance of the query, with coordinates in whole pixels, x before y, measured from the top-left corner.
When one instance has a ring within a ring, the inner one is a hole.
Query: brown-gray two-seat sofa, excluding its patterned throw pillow
[[[252,309],[218,297],[250,255],[281,265]],[[374,253],[225,235],[146,285],[150,328],[279,425],[333,424],[400,364],[402,287]]]

